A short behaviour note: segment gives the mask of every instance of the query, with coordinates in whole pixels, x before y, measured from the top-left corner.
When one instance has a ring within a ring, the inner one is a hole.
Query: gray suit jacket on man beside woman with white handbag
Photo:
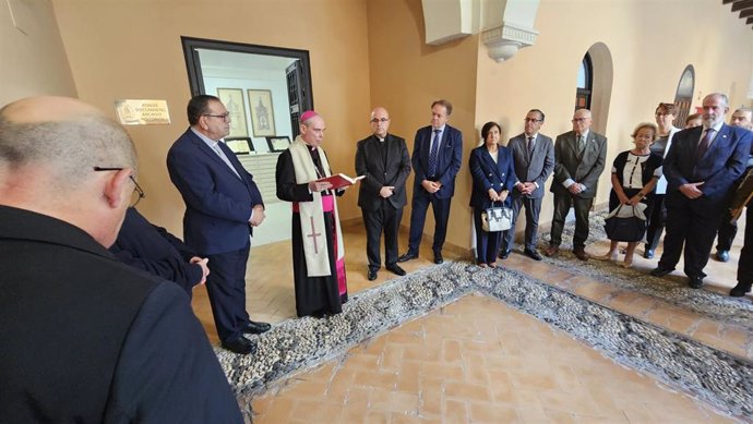
[[[543,197],[543,183],[554,170],[554,143],[552,143],[552,140],[539,133],[536,136],[534,153],[530,155],[530,158],[528,157],[528,141],[525,133],[510,138],[507,148],[513,154],[517,181],[530,181],[538,184],[538,189],[526,195],[526,197]],[[523,196],[517,190],[513,190],[511,194],[515,197]]]

